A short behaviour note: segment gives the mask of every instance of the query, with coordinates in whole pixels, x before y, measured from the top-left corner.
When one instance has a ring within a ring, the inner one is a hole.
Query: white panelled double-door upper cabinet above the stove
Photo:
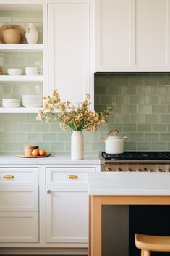
[[[170,0],[96,0],[95,71],[169,71]]]

